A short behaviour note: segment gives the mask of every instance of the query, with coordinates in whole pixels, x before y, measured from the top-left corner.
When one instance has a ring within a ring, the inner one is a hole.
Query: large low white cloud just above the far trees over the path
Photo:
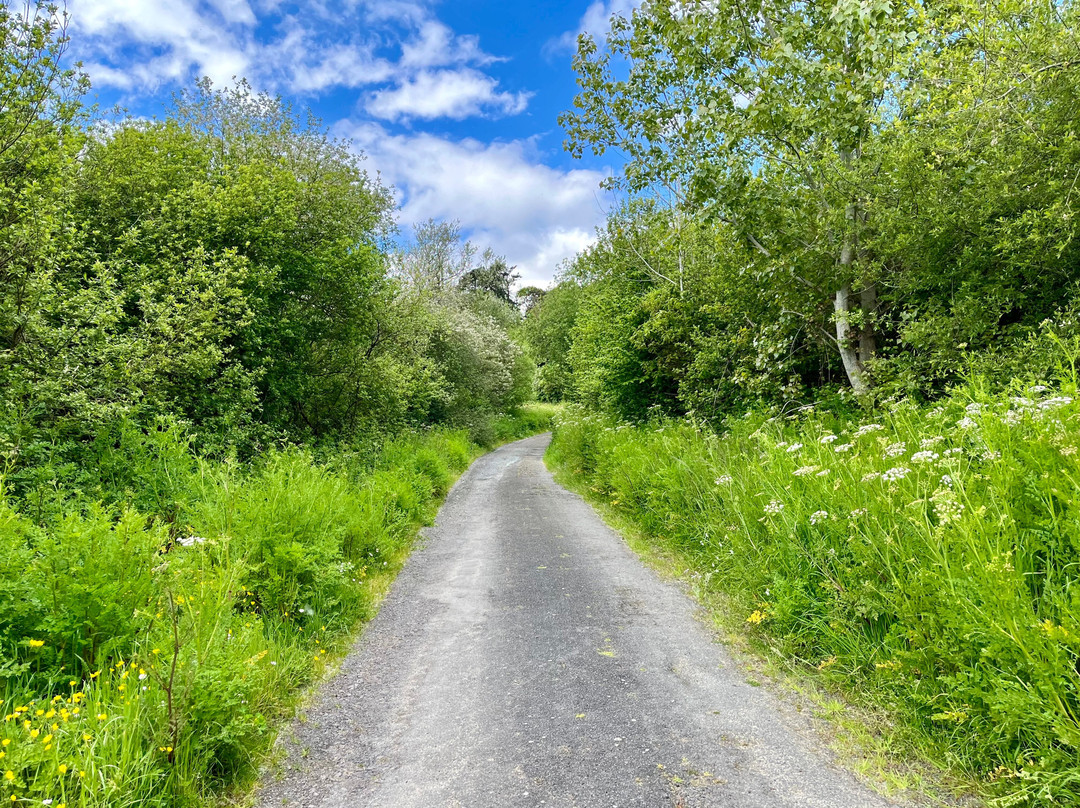
[[[490,246],[516,265],[523,284],[550,282],[563,259],[592,242],[606,215],[598,190],[606,174],[544,165],[529,140],[391,135],[350,121],[335,130],[394,185],[403,224],[458,219],[480,248]]]

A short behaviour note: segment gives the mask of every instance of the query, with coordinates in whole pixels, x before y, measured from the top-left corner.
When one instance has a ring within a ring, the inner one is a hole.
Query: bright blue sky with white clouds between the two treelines
[[[581,30],[637,0],[68,0],[104,107],[160,116],[208,76],[310,107],[393,185],[403,230],[458,219],[545,285],[611,204],[610,161],[572,161],[556,118]]]

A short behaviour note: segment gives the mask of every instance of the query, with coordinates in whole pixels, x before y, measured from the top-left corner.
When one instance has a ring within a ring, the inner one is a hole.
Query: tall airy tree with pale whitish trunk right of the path
[[[612,19],[607,52],[579,39],[568,148],[616,149],[631,191],[725,221],[774,287],[798,285],[785,304],[819,328],[831,302],[845,371],[866,392],[879,268],[863,246],[861,158],[895,116],[932,15],[917,0],[647,3]]]

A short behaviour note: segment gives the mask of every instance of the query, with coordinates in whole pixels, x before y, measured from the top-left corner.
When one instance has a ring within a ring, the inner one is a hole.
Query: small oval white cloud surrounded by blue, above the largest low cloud
[[[423,71],[392,90],[380,90],[367,102],[367,112],[397,121],[409,118],[461,120],[485,112],[516,115],[525,110],[529,93],[500,93],[499,82],[478,70]]]

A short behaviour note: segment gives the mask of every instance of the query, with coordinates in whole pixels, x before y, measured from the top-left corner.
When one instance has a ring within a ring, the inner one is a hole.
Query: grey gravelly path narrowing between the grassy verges
[[[740,675],[693,604],[544,468],[458,481],[259,805],[891,805]]]

